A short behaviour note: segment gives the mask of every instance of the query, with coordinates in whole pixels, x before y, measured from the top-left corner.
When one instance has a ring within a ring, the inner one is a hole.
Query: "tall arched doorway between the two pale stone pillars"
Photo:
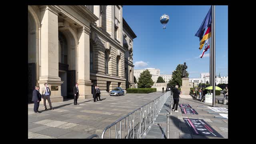
[[[59,77],[61,96],[74,98],[73,88],[77,82],[77,42],[68,28],[59,28]]]

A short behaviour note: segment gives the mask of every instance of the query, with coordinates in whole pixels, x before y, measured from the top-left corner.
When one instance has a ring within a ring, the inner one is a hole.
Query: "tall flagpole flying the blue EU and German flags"
[[[215,6],[212,6],[212,106],[215,107]]]

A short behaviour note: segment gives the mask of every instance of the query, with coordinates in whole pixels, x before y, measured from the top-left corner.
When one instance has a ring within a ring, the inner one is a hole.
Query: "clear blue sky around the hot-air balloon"
[[[123,17],[137,38],[133,42],[134,69],[158,68],[171,74],[186,62],[190,78],[209,72],[209,52],[199,58],[199,38],[194,36],[210,6],[123,6]],[[166,29],[160,17],[170,16]],[[215,6],[216,74],[228,74],[228,6]],[[206,57],[205,57],[206,56]]]

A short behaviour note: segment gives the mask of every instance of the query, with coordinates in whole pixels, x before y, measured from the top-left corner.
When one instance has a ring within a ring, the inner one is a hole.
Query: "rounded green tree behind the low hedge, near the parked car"
[[[152,80],[152,75],[148,70],[144,70],[140,74],[140,78],[138,81],[138,88],[151,88],[153,86],[154,82]]]

